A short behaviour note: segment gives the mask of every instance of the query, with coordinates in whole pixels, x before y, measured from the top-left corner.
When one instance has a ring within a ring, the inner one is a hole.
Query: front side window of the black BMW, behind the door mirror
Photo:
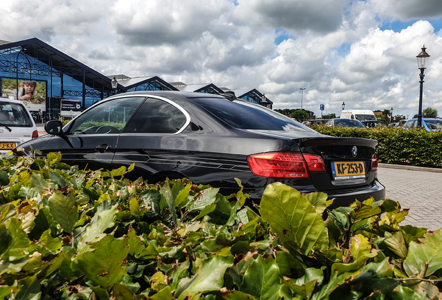
[[[68,134],[121,133],[145,97],[122,97],[90,108],[70,126]]]

